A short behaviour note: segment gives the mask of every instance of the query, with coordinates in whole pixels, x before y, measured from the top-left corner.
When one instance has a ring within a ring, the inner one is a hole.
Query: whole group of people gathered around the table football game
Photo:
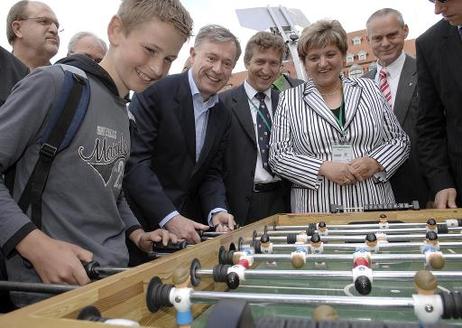
[[[58,18],[19,1],[7,18],[13,51],[0,49],[1,279],[83,285],[91,260],[136,265],[154,242],[197,243],[200,230],[331,204],[460,206],[462,0],[432,2],[443,19],[417,39],[416,58],[403,51],[401,13],[384,8],[365,22],[377,57],[365,76],[342,74],[347,34],[321,20],[298,40],[306,81],[281,74],[282,37],[258,32],[246,80],[221,92],[241,45],[220,25],[202,27],[184,72],[167,76],[192,32],[179,0],[122,0],[108,46],[78,33],[55,65]],[[68,72],[89,101],[61,149],[41,140]],[[20,206],[43,158],[38,201]],[[43,298],[9,296],[4,308]]]

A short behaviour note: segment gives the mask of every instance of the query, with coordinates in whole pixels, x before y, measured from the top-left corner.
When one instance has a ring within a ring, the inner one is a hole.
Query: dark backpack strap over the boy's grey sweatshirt
[[[77,133],[85,116],[88,101],[88,80],[65,70],[61,97],[53,107],[42,133],[38,160],[18,202],[24,213],[27,213],[29,205],[31,206],[31,221],[39,229],[42,225],[42,194],[53,160],[59,151],[70,144]],[[79,108],[82,110],[78,110]]]

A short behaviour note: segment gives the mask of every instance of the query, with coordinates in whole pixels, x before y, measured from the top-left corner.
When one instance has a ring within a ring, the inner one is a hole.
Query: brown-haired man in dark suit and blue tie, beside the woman
[[[268,166],[272,116],[279,98],[271,86],[279,76],[284,49],[280,36],[255,34],[244,54],[246,81],[220,94],[233,117],[225,155],[227,199],[241,225],[288,211],[288,188]]]

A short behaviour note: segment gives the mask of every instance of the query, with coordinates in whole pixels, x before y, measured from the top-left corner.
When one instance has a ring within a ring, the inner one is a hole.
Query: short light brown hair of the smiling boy
[[[126,34],[153,18],[173,25],[185,39],[192,33],[192,18],[178,0],[122,0],[117,15],[122,20]]]

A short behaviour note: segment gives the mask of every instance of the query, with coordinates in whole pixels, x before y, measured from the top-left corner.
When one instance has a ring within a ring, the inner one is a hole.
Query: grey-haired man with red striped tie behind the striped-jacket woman
[[[411,139],[409,159],[390,179],[395,200],[400,203],[418,200],[420,206],[425,207],[430,195],[416,151],[415,126],[419,110],[416,60],[403,52],[409,29],[401,13],[391,8],[373,13],[366,25],[368,42],[378,60],[377,68],[368,72],[365,77],[375,80],[383,90],[385,88],[380,72],[384,69],[388,90],[391,92],[390,106]]]

